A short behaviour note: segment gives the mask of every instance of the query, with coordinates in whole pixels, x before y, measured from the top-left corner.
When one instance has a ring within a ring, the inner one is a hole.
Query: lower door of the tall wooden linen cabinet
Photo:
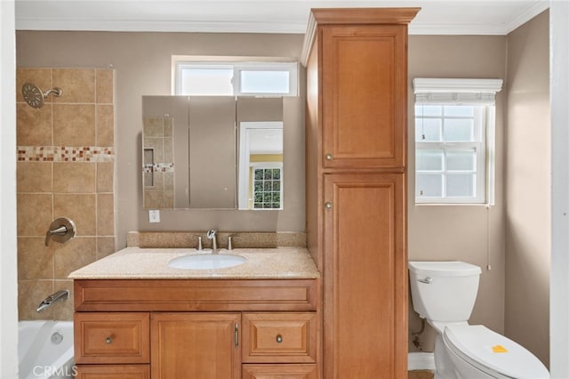
[[[406,377],[403,174],[326,174],[325,377]]]

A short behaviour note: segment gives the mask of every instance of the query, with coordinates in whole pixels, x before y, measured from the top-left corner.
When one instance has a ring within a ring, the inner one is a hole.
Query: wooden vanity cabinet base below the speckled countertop
[[[76,279],[77,377],[317,379],[317,289],[317,279]]]

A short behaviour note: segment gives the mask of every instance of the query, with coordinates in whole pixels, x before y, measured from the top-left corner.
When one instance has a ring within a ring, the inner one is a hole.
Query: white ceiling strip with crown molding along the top
[[[0,0],[1,1],[1,0]],[[410,34],[506,35],[548,0],[16,0],[19,30],[305,33],[310,8],[421,7]]]

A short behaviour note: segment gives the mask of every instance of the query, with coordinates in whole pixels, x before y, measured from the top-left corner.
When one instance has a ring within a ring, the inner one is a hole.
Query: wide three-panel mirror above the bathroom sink
[[[144,209],[282,209],[283,100],[143,96]]]

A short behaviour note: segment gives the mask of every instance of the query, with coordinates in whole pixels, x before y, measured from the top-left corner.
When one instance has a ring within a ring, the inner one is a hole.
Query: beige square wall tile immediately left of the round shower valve
[[[52,223],[52,194],[18,195],[18,236],[45,236]]]

